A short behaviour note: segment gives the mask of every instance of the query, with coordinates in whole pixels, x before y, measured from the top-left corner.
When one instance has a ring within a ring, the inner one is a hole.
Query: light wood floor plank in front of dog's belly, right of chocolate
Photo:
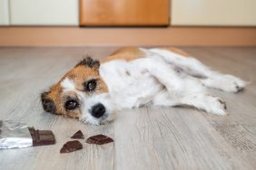
[[[119,129],[115,130],[117,168],[253,169],[203,114],[180,108],[123,112],[114,127]]]

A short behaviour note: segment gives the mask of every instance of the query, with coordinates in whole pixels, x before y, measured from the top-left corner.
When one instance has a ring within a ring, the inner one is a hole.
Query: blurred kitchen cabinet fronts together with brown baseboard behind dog
[[[255,0],[0,0],[0,45],[254,46],[255,9]]]

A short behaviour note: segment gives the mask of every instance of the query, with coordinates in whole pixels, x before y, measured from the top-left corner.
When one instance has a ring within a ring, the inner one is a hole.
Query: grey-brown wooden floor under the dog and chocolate
[[[211,90],[227,101],[227,117],[196,109],[143,108],[119,112],[111,124],[93,127],[47,114],[39,95],[86,54],[103,57],[114,48],[0,48],[0,119],[51,129],[54,146],[0,150],[0,169],[156,170],[256,169],[256,48],[182,48],[217,71],[250,80],[238,94]],[[60,154],[81,129],[114,143]]]

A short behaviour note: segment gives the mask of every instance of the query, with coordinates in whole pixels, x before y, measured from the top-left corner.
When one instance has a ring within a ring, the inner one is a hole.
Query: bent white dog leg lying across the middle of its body
[[[181,99],[188,94],[204,93],[202,83],[191,76],[182,76],[159,56],[138,59],[132,62],[134,68],[147,71],[158,80],[174,99]]]

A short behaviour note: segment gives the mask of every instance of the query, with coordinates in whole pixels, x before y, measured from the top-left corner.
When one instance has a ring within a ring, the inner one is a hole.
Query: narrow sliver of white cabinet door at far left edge
[[[8,0],[0,0],[0,25],[9,24],[9,5]]]

